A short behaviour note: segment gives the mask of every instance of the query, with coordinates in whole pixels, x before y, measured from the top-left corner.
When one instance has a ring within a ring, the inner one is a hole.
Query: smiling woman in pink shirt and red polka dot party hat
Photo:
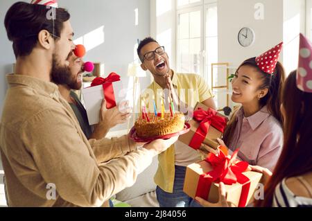
[[[241,103],[223,139],[229,149],[251,165],[272,170],[281,152],[281,86],[284,68],[277,62],[282,44],[245,60],[232,79],[232,100]],[[274,132],[274,133],[273,133]]]

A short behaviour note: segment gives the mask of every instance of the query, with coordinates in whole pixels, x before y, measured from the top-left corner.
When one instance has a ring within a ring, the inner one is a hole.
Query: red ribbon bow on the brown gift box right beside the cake
[[[204,109],[198,108],[194,114],[193,118],[200,122],[200,126],[196,130],[189,146],[195,150],[200,148],[200,144],[205,140],[207,132],[209,131],[210,125],[215,127],[218,131],[224,132],[225,127],[227,126],[227,118],[216,115],[214,109],[209,108],[207,111]]]

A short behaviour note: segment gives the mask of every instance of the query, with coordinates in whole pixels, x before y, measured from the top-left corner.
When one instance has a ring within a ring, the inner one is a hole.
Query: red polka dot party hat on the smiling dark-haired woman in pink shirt
[[[259,69],[265,73],[274,73],[277,61],[279,60],[279,54],[281,53],[281,48],[283,48],[283,42],[258,56],[256,62]]]

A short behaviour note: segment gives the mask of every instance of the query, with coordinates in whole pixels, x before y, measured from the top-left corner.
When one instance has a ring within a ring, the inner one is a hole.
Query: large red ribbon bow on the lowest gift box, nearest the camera
[[[222,151],[218,154],[209,154],[207,159],[213,170],[200,175],[198,181],[196,196],[202,199],[208,199],[211,184],[223,182],[227,185],[243,184],[241,197],[239,199],[239,207],[244,207],[247,203],[248,193],[250,190],[250,179],[243,175],[248,168],[248,163],[236,159],[239,149],[235,150],[232,157],[225,156]]]

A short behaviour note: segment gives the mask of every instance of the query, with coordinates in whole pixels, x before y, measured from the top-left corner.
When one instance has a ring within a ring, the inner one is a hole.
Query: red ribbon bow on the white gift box
[[[112,82],[116,82],[120,80],[120,76],[114,72],[110,73],[107,78],[95,78],[91,87],[103,85],[103,93],[106,100],[106,108],[110,109],[112,107],[116,107],[116,99],[114,94],[114,87],[112,86]]]

